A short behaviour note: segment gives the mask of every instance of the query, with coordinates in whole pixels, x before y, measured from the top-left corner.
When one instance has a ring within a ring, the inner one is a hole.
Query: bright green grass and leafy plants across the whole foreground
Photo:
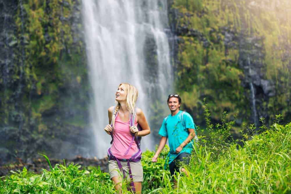
[[[223,118],[226,118],[223,113]],[[157,163],[152,163],[154,152],[143,153],[143,193],[288,193],[291,191],[291,123],[278,124],[281,115],[261,134],[245,134],[243,148],[230,138],[234,121],[213,125],[209,110],[205,109],[207,133],[198,130],[199,143],[194,145],[190,165],[185,167],[188,177],[178,174],[177,187],[170,173],[164,170],[168,147],[162,151]],[[264,119],[261,119],[264,122]],[[253,126],[247,129],[253,129]],[[251,135],[251,140],[249,139]],[[0,193],[112,193],[113,182],[100,168],[78,164],[51,166],[41,175],[22,171],[0,179]],[[130,193],[123,182],[123,193]]]

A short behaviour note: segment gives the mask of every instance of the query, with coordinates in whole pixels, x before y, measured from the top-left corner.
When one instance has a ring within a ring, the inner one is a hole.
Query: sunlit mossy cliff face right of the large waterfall
[[[257,109],[272,124],[271,115],[280,112],[290,120],[291,26],[288,0],[175,0],[172,9],[178,10],[172,23],[180,32],[176,89],[182,95],[184,108],[196,122],[203,117],[203,98],[207,97],[214,120],[220,113],[240,112],[242,122],[249,122],[247,58],[251,68],[258,70],[273,84],[272,95],[259,94]],[[173,18],[173,17],[172,17]],[[184,30],[183,29],[187,29]],[[263,86],[264,87],[264,86]],[[260,96],[261,95],[261,96]],[[230,119],[230,118],[228,118]]]

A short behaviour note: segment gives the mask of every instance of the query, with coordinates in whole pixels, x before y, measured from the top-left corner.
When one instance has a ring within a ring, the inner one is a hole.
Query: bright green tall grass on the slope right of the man
[[[235,143],[216,155],[211,147],[194,145],[188,177],[178,175],[177,187],[164,185],[150,193],[291,193],[291,123],[273,124],[262,134]]]

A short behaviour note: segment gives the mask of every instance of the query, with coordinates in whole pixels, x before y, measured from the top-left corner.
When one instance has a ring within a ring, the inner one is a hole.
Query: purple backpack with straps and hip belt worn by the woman
[[[114,108],[113,108],[113,113],[115,111],[115,108],[116,108],[116,106],[114,106]],[[115,119],[117,117],[117,114],[118,114],[118,111],[115,114]],[[133,113],[129,113],[129,124],[130,124],[130,127],[134,126],[135,116],[136,115],[134,115]],[[111,135],[112,140],[111,140],[110,144],[113,143],[114,126],[112,126],[112,120],[111,120],[111,127],[112,127],[112,131],[111,131],[110,135]],[[139,124],[137,124],[137,128],[138,128],[139,131],[142,130],[142,128],[141,128],[141,126]],[[122,162],[125,162],[125,161],[127,162],[129,177],[130,177],[130,181],[131,181],[130,182],[130,186],[132,187],[132,191],[134,191],[134,193],[135,193],[135,188],[134,188],[133,179],[132,179],[132,172],[131,172],[131,169],[130,169],[130,163],[129,162],[139,162],[141,160],[141,154],[142,154],[142,152],[141,152],[141,137],[139,137],[139,136],[136,137],[134,134],[132,134],[131,143],[130,143],[127,151],[125,152],[125,154],[127,154],[129,152],[129,149],[131,148],[133,141],[135,141],[135,143],[136,143],[136,145],[137,145],[139,150],[135,154],[133,154],[131,156],[131,158],[129,158],[129,159],[116,158],[111,153],[111,147],[109,147],[109,149],[107,151],[107,155],[108,155],[108,160],[114,160],[114,161],[117,162],[118,167],[119,167],[120,170],[122,169],[121,161]],[[126,175],[125,175],[124,171],[123,171],[123,178],[124,179],[126,178]],[[130,191],[130,188],[127,188],[127,190]]]

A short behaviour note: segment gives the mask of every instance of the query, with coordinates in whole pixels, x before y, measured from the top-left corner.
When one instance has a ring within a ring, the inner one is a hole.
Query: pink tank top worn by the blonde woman
[[[137,126],[136,120],[134,121],[134,125]],[[129,159],[133,154],[138,151],[138,147],[133,141],[132,146],[129,149],[129,152],[125,155],[125,152],[129,148],[129,145],[132,140],[132,134],[129,128],[129,120],[127,122],[123,122],[120,120],[118,114],[114,123],[113,130],[113,143],[111,145],[111,153],[113,156],[119,159]]]

